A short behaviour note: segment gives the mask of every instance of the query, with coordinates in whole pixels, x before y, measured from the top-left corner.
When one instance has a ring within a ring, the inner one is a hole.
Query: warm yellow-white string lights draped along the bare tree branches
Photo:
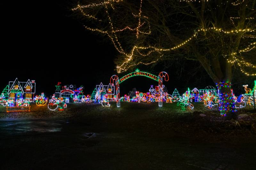
[[[185,1],[187,3],[191,3],[191,2],[197,2],[197,0],[180,0],[180,1]],[[178,48],[181,48],[183,46],[185,46],[189,41],[191,41],[192,39],[199,39],[198,36],[199,34],[206,34],[207,32],[209,33],[218,33],[218,34],[239,34],[243,37],[243,34],[244,33],[252,33],[252,32],[255,32],[254,29],[250,29],[250,28],[247,28],[247,29],[234,29],[234,30],[225,30],[225,29],[222,29],[222,28],[216,28],[216,27],[209,27],[209,28],[199,28],[197,29],[196,31],[194,31],[194,33],[192,34],[192,36],[190,36],[187,40],[181,42],[180,44],[174,46],[174,47],[171,47],[171,48],[157,48],[156,46],[154,45],[148,45],[146,47],[144,46],[136,46],[134,45],[132,48],[131,48],[131,51],[130,52],[125,52],[124,51],[124,48],[122,47],[120,41],[118,40],[118,35],[117,33],[119,32],[123,32],[125,30],[130,30],[130,31],[133,31],[134,34],[136,35],[136,38],[138,39],[140,34],[150,34],[151,33],[151,30],[150,30],[150,22],[149,22],[149,19],[148,17],[142,15],[142,0],[140,0],[140,7],[139,7],[139,11],[138,11],[138,15],[135,15],[135,14],[132,14],[133,17],[136,17],[138,18],[138,24],[136,24],[137,26],[135,28],[131,28],[130,26],[126,26],[122,29],[116,29],[115,26],[114,26],[114,22],[112,21],[112,18],[110,17],[109,15],[109,12],[108,12],[108,7],[112,8],[114,10],[114,7],[113,7],[113,4],[114,3],[119,3],[119,2],[122,2],[121,0],[120,1],[115,1],[115,0],[107,0],[107,1],[103,1],[101,3],[93,3],[93,4],[89,4],[89,5],[80,5],[78,4],[76,8],[73,8],[72,10],[73,11],[76,11],[76,10],[79,10],[83,13],[83,15],[85,17],[89,17],[89,18],[92,18],[98,22],[101,22],[100,19],[98,18],[95,18],[95,16],[92,16],[92,15],[88,15],[86,12],[83,11],[83,9],[86,9],[86,8],[93,8],[93,7],[102,7],[102,11],[104,11],[107,15],[107,18],[108,18],[108,22],[109,22],[109,30],[106,29],[106,30],[103,30],[103,29],[98,29],[98,28],[90,28],[88,26],[84,26],[86,29],[88,30],[91,30],[91,31],[96,31],[96,32],[99,32],[99,33],[102,33],[102,34],[105,34],[108,36],[108,38],[112,41],[114,47],[116,48],[116,50],[121,53],[122,55],[125,56],[125,60],[122,64],[120,65],[117,65],[116,66],[116,69],[117,69],[117,72],[118,73],[121,73],[121,72],[124,72],[124,71],[127,71],[129,68],[131,67],[134,67],[138,64],[144,64],[144,65],[149,65],[149,64],[152,64],[152,63],[156,63],[159,58],[161,58],[163,55],[164,55],[164,52],[168,52],[168,51],[172,51],[172,50],[175,50],[175,49],[178,49]],[[198,1],[198,2],[208,2],[208,0],[201,0],[201,1]],[[228,1],[227,1],[228,2]],[[231,3],[232,5],[239,5],[239,4],[242,4],[244,2],[244,0],[242,1],[236,1],[236,2],[233,2]],[[191,5],[191,4],[190,4]],[[232,20],[234,17],[231,17],[231,21],[234,23],[234,21]],[[236,17],[236,18],[239,18],[239,17]],[[252,17],[251,17],[252,18]],[[251,18],[245,18],[245,19],[251,19]],[[100,25],[100,23],[99,23]],[[147,32],[145,31],[142,31],[142,30],[145,30],[145,29],[148,29]],[[253,37],[253,36],[252,36]],[[250,37],[251,38],[251,37]],[[253,49],[255,47],[252,47],[250,48]],[[244,51],[248,51],[249,48],[245,48],[244,49],[238,49],[238,52],[244,52]],[[144,52],[143,52],[144,51]],[[144,63],[144,62],[141,62],[141,61],[138,61],[137,63],[135,63],[133,61],[133,59],[135,58],[134,56],[136,55],[140,55],[140,56],[148,56],[149,54],[151,53],[156,53],[159,57],[154,60],[154,61],[151,61],[151,62],[148,62],[148,63]],[[236,62],[236,64],[238,66],[240,66],[240,70],[245,73],[246,75],[256,75],[255,73],[253,74],[250,74],[250,73],[247,73],[243,70],[243,66],[249,66],[249,67],[253,67],[255,68],[254,65],[252,64],[248,64],[247,62],[244,61],[243,57],[240,57],[240,59],[238,59],[238,56],[236,55],[232,55],[232,61],[227,59],[228,62]],[[161,88],[160,88],[161,89]]]

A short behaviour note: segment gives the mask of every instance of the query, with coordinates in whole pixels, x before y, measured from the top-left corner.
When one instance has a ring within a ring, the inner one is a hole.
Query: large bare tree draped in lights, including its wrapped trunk
[[[236,118],[233,68],[255,76],[255,0],[105,0],[73,11],[120,52],[117,72],[184,57],[201,63],[220,92],[220,113]],[[234,66],[234,67],[232,67]]]

